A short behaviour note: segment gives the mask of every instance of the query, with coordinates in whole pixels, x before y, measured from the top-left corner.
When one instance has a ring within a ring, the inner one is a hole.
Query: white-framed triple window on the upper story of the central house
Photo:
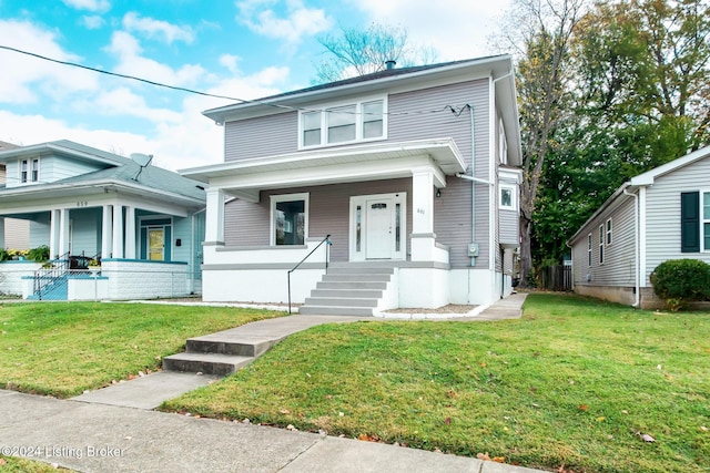
[[[384,138],[386,106],[385,99],[374,99],[301,112],[298,147]]]

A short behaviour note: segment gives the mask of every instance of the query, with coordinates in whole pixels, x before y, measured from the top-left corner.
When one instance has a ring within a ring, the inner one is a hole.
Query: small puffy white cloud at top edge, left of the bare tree
[[[273,1],[246,0],[237,2],[240,14],[236,21],[246,24],[252,31],[267,38],[298,43],[304,35],[315,35],[333,25],[323,9],[310,9],[300,0],[286,1],[283,17],[272,8]]]

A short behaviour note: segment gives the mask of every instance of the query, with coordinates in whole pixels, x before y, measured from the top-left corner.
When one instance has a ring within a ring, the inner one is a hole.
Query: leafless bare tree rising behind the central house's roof
[[[428,64],[436,61],[430,47],[415,47],[405,28],[372,23],[367,29],[343,28],[338,34],[324,35],[318,42],[326,58],[316,65],[314,82],[334,82],[378,72],[387,61],[398,65]]]

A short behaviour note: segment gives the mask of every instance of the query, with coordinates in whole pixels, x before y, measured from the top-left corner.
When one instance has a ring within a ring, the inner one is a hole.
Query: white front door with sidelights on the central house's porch
[[[351,261],[406,259],[407,194],[351,197]]]

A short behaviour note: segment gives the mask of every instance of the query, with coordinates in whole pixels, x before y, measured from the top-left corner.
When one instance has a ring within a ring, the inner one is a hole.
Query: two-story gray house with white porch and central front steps
[[[372,315],[511,291],[521,152],[510,56],[388,64],[204,114],[224,126],[224,162],[181,173],[207,188],[205,300],[291,297],[303,313]],[[290,296],[288,270],[328,235],[291,274]]]

